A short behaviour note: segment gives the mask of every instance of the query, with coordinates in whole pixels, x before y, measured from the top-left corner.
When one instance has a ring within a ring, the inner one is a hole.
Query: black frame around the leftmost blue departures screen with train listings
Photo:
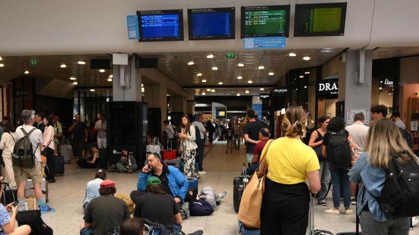
[[[144,14],[147,13],[147,14]],[[179,33],[180,37],[161,37],[161,38],[143,38],[143,30],[141,27],[141,16],[142,15],[168,15],[168,14],[178,14],[179,15]],[[174,9],[174,10],[150,10],[150,11],[137,11],[138,16],[138,29],[140,38],[139,42],[168,42],[168,41],[184,41],[184,30],[183,30],[183,9]]]

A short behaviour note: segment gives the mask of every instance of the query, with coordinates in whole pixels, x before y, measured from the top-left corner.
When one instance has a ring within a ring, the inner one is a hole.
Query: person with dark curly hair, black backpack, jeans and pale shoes
[[[337,138],[345,138],[347,143],[344,143]],[[336,139],[334,141],[332,139]],[[330,119],[329,124],[327,125],[327,132],[323,136],[323,156],[328,158],[328,165],[330,170],[330,176],[332,178],[332,196],[333,196],[333,207],[325,210],[324,212],[327,214],[332,215],[340,215],[339,206],[340,206],[340,196],[341,192],[343,193],[343,205],[345,206],[345,215],[350,215],[354,213],[350,208],[350,186],[349,186],[349,167],[350,162],[349,160],[347,164],[337,164],[337,162],[333,161],[334,159],[344,158],[345,155],[350,155],[350,135],[345,130],[345,122],[341,117],[334,117]],[[336,143],[343,143],[342,146],[336,146]],[[330,143],[330,144],[329,144]],[[346,145],[347,144],[347,145]],[[345,148],[344,146],[347,146]],[[340,151],[336,151],[336,149],[340,149]],[[336,152],[342,153],[342,155],[337,156]],[[342,190],[341,190],[342,188]]]

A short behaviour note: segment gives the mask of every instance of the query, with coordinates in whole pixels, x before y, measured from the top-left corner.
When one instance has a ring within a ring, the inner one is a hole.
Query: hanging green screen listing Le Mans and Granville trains
[[[241,7],[241,38],[288,37],[290,5]]]

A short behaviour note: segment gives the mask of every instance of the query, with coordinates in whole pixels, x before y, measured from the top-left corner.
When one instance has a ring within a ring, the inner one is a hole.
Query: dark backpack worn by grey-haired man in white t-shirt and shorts
[[[27,133],[23,127],[20,128],[20,130],[25,136],[18,139],[14,145],[12,153],[13,166],[30,169],[35,166],[35,152],[39,145],[36,146],[35,151],[33,151],[32,142],[29,139],[29,136],[36,128],[34,127],[29,133]]]

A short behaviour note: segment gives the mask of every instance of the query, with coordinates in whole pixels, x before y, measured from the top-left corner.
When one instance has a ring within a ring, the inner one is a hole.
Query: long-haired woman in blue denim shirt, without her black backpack
[[[363,152],[349,171],[349,179],[361,188],[357,198],[357,214],[362,233],[368,235],[409,234],[410,217],[394,218],[380,208],[377,198],[386,180],[390,161],[397,158],[402,165],[413,159],[419,161],[404,141],[398,126],[390,119],[376,120],[369,128]]]

